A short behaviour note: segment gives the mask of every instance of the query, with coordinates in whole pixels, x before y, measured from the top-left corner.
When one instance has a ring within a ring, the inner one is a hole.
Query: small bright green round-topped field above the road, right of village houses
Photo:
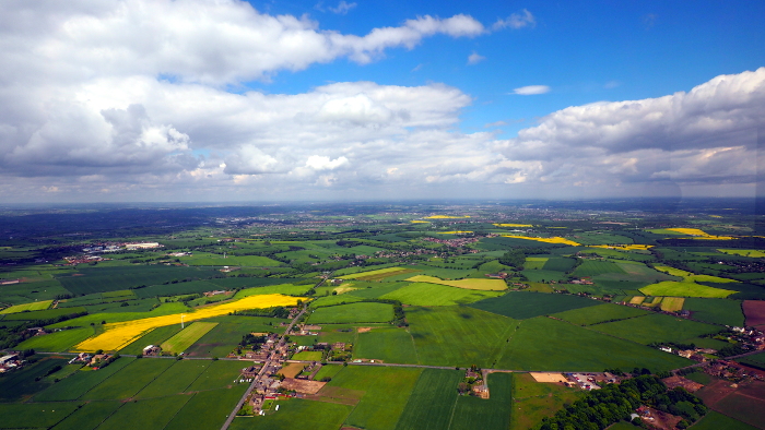
[[[368,358],[385,362],[416,365],[414,339],[403,329],[379,327],[358,333],[353,358]]]

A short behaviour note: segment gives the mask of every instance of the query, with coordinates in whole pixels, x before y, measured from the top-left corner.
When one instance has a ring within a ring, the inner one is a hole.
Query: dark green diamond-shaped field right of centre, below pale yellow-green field
[[[485,299],[470,304],[471,308],[522,320],[539,315],[549,315],[570,309],[600,304],[600,301],[578,296],[510,291],[502,297]]]

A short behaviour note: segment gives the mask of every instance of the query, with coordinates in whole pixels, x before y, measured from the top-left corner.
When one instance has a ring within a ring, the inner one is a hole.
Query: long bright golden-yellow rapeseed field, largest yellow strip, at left
[[[248,296],[240,300],[215,304],[192,312],[184,313],[184,322],[203,320],[228,314],[228,312],[247,309],[272,308],[276,306],[295,306],[297,297],[279,294]],[[180,313],[163,316],[144,318],[142,320],[123,321],[104,325],[104,333],[85,339],[74,346],[75,351],[118,350],[141,337],[152,329],[180,324]]]

